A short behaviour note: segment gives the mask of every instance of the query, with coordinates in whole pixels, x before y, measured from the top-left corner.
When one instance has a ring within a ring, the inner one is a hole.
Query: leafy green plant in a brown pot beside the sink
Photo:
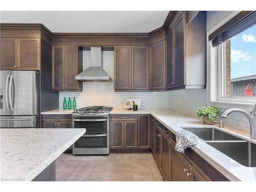
[[[203,116],[204,124],[214,124],[214,121],[218,118],[218,111],[212,106],[202,106],[197,109],[197,116]]]

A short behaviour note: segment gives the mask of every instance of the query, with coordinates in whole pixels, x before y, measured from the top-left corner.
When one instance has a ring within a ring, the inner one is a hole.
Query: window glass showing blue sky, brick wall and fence
[[[225,96],[256,96],[256,25],[225,41]]]

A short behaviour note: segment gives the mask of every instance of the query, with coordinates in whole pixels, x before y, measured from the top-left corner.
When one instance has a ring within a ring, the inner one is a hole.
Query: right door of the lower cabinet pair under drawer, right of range
[[[137,148],[137,121],[124,122],[124,148]]]

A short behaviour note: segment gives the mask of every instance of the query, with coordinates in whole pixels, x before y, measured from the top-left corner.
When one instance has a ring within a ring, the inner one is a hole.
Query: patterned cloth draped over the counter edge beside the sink
[[[203,141],[198,136],[194,135],[193,133],[187,130],[180,130],[176,132],[176,146],[175,149],[178,152],[184,153],[184,150],[187,147],[197,145]]]

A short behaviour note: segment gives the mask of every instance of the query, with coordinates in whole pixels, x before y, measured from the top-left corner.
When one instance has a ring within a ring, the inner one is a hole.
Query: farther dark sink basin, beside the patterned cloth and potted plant
[[[243,140],[243,139],[240,139],[239,137],[217,130],[214,127],[209,127],[209,128],[193,127],[193,128],[183,128],[183,130],[190,131],[205,141]]]

